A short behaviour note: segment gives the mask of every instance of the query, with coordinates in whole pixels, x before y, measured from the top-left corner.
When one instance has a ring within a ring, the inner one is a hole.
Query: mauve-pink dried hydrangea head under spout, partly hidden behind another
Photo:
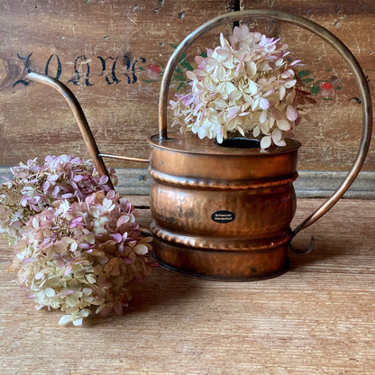
[[[47,156],[43,165],[28,160],[11,171],[13,178],[0,186],[0,233],[6,233],[10,243],[32,215],[55,200],[84,200],[97,190],[110,189],[108,178],[99,176],[91,160],[70,155]],[[114,169],[108,172],[115,184]]]

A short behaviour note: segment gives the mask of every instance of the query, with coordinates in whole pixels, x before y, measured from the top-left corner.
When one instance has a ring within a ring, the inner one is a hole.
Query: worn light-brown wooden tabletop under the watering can
[[[132,197],[147,204],[147,197]],[[299,199],[296,223],[322,201]],[[141,222],[150,215],[142,211]],[[373,375],[375,201],[342,200],[296,238],[279,278],[252,283],[154,270],[123,316],[59,327],[6,273],[0,242],[0,370],[8,375]]]

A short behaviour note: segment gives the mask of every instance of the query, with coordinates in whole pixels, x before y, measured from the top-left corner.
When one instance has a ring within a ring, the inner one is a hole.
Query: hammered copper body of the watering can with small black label
[[[150,142],[151,231],[161,265],[211,279],[286,270],[298,142],[263,152],[192,134]]]

